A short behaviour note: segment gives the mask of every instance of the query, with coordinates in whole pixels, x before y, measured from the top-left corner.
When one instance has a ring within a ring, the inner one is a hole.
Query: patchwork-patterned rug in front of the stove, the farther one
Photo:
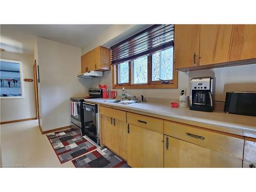
[[[79,129],[71,128],[65,131],[50,133],[47,134],[47,137],[60,163],[67,162],[97,148],[87,139],[80,136]]]

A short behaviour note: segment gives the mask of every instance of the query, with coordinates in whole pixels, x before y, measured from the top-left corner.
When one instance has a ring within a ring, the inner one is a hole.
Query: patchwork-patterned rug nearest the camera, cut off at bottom
[[[105,146],[72,160],[72,163],[76,168],[130,167],[124,160],[109,151]]]

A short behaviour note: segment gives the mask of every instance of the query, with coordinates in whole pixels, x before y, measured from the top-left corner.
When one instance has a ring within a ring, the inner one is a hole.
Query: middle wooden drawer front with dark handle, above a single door
[[[135,113],[127,113],[127,122],[158,132],[163,133],[163,120],[154,118],[154,117],[148,117],[145,115],[138,115]]]

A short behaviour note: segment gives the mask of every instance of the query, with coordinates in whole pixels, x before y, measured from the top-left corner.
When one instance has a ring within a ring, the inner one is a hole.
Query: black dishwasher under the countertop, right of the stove
[[[100,144],[98,105],[88,102],[82,103],[83,107],[83,132],[95,143]]]

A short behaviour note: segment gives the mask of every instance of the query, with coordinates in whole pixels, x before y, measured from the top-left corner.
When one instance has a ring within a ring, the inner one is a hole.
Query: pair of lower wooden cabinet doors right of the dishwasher
[[[127,160],[127,123],[101,115],[102,143]]]

